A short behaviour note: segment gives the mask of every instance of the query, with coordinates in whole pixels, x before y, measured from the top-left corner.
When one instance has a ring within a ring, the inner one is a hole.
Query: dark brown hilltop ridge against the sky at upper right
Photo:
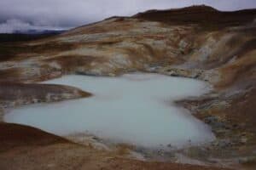
[[[166,10],[148,10],[133,16],[137,19],[160,21],[172,25],[196,24],[202,28],[218,30],[227,26],[241,26],[256,17],[256,9],[219,11],[206,5]]]

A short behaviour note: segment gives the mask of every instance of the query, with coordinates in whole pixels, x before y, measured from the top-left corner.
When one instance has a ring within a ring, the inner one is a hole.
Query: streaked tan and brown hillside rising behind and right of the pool
[[[114,77],[131,71],[207,81],[214,87],[211,94],[177,102],[207,122],[218,137],[212,147],[196,149],[191,157],[207,157],[207,161],[225,166],[256,165],[256,9],[221,12],[193,6],[150,10],[80,26],[55,37],[3,42],[0,51],[3,84],[41,82],[65,74]],[[46,92],[51,90],[42,86]],[[0,85],[0,93],[6,88]],[[75,93],[68,99],[77,97],[83,95]],[[148,169],[149,164],[137,168]]]

